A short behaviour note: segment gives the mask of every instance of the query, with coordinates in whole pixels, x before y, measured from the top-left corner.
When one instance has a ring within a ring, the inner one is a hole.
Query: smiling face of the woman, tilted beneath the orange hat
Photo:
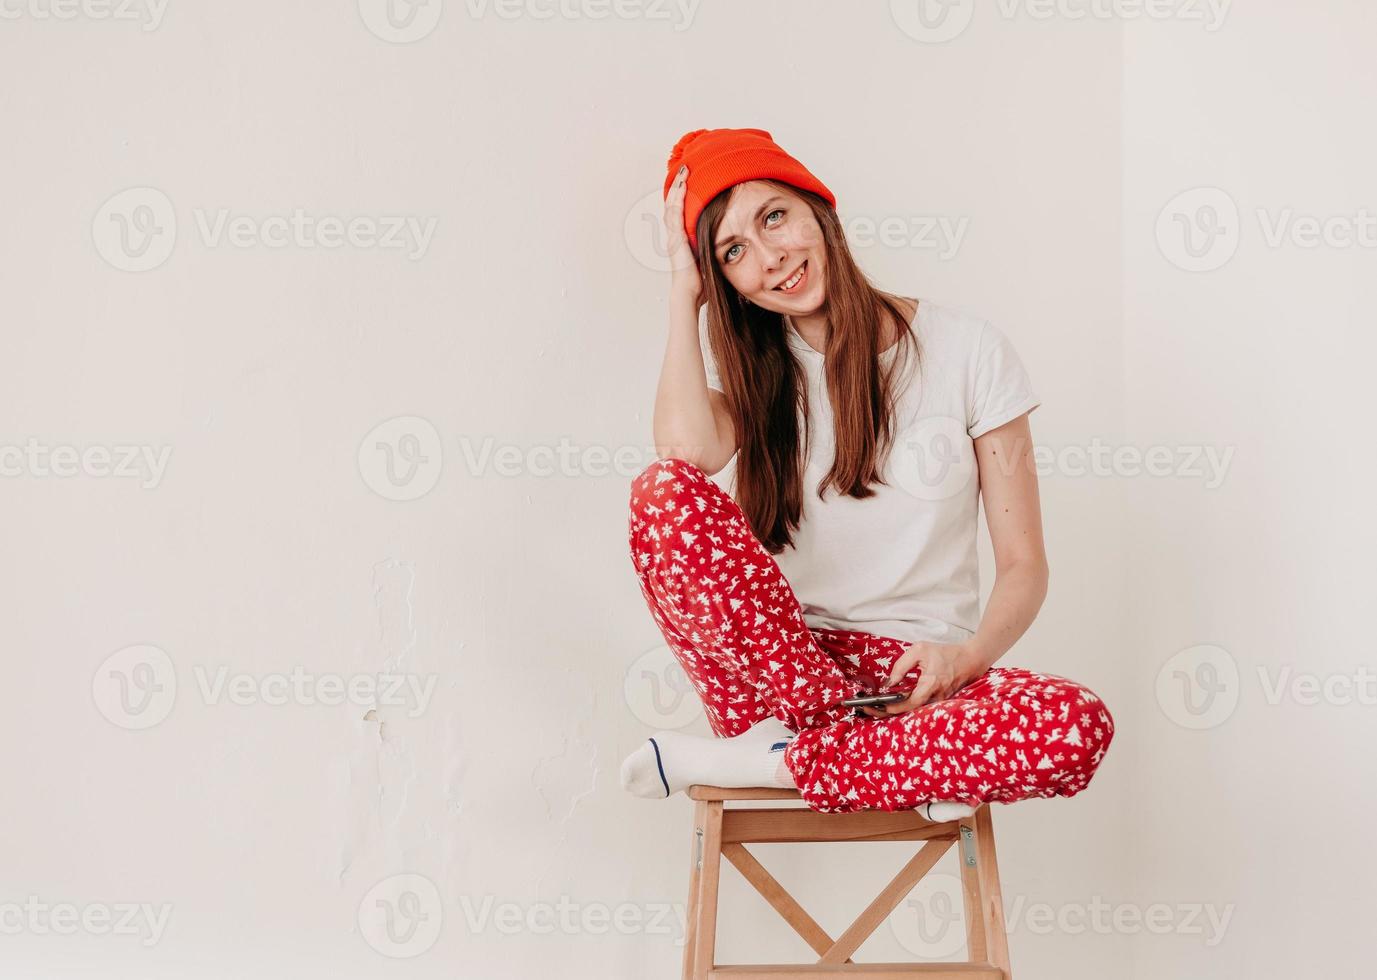
[[[713,255],[727,282],[759,307],[801,317],[822,306],[822,228],[797,194],[760,180],[733,187]]]

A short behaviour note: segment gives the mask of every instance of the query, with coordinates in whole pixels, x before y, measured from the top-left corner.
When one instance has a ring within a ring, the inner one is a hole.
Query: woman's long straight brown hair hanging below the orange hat
[[[778,180],[764,183],[803,198],[822,228],[828,317],[823,365],[836,457],[818,483],[818,498],[832,486],[837,493],[865,500],[874,496],[872,483],[885,483],[880,467],[895,438],[894,377],[901,365],[907,365],[909,352],[918,356],[917,337],[899,304],[876,289],[856,266],[832,205],[801,187]],[[745,301],[717,266],[712,242],[730,194],[730,189],[717,194],[698,217],[708,344],[737,427],[734,496],[750,530],[777,555],[793,544],[803,513],[808,384],[803,363],[789,350],[784,314]],[[881,370],[885,318],[898,325],[898,343],[905,350],[903,358]]]

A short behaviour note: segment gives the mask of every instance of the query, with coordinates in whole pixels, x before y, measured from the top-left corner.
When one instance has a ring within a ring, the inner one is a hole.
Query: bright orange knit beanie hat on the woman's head
[[[669,151],[664,197],[669,197],[669,187],[684,164],[688,165],[688,184],[684,187],[684,231],[694,252],[698,251],[698,215],[717,194],[745,180],[774,178],[821,194],[828,204],[837,206],[837,200],[826,184],[781,150],[764,129],[686,132]]]

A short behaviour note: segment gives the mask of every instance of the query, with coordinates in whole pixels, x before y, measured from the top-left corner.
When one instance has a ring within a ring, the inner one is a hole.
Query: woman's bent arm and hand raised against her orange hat
[[[737,454],[737,432],[727,396],[708,387],[698,343],[698,311],[705,297],[683,226],[687,173],[687,168],[680,169],[665,198],[665,231],[673,278],[669,286],[669,340],[660,369],[651,424],[660,458],[687,460],[711,476]]]

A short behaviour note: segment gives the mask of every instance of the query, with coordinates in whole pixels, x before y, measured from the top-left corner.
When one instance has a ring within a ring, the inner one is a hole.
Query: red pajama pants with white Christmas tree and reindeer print
[[[713,734],[779,718],[797,732],[785,765],[812,809],[1070,797],[1114,736],[1093,692],[1023,668],[991,668],[902,714],[855,717],[839,702],[883,685],[909,644],[810,628],[745,513],[691,462],[657,460],[632,480],[628,537],[651,615]],[[895,688],[920,676],[916,666]]]

